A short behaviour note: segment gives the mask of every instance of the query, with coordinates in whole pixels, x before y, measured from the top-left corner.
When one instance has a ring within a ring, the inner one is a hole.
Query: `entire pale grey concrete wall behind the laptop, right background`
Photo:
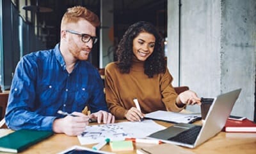
[[[189,86],[199,97],[241,87],[232,115],[253,120],[256,1],[180,0],[180,13],[177,3],[168,1],[168,67],[174,81],[180,79],[179,85]],[[200,106],[188,109],[198,112]]]

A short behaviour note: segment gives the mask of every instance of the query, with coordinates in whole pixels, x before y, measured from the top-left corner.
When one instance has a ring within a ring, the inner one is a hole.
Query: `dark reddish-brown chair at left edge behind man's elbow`
[[[4,125],[4,115],[5,110],[8,102],[9,93],[0,93],[0,128],[6,128],[6,125]]]

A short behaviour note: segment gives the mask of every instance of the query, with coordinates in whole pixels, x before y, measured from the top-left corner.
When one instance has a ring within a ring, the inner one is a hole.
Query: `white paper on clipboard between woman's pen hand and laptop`
[[[145,118],[163,120],[173,123],[191,123],[201,119],[201,114],[175,113],[171,111],[155,111],[145,115]]]

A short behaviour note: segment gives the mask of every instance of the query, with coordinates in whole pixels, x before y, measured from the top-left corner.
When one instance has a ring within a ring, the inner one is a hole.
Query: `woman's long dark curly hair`
[[[132,42],[140,32],[148,32],[153,34],[156,38],[154,46],[154,52],[145,60],[144,73],[147,74],[148,78],[152,78],[154,74],[164,73],[166,65],[164,61],[164,50],[162,45],[162,38],[157,32],[154,25],[149,22],[140,21],[131,25],[125,32],[121,39],[118,49],[116,50],[118,58],[118,68],[121,73],[129,73],[132,66]]]

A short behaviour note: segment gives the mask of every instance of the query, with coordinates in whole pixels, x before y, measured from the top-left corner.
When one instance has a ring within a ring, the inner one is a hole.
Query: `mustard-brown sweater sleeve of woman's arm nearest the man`
[[[114,65],[115,64],[105,67],[106,102],[109,111],[115,116],[116,119],[124,119],[126,109],[121,106],[119,101],[120,98],[118,97],[118,88],[115,86],[117,76],[116,73],[111,73],[111,71],[114,71]]]

